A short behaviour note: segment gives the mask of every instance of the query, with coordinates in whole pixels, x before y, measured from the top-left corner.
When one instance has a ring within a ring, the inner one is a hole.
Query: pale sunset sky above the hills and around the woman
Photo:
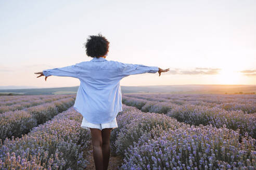
[[[107,60],[170,68],[121,86],[256,84],[256,1],[0,0],[0,86],[79,86],[35,72],[92,60],[89,35],[110,41]]]

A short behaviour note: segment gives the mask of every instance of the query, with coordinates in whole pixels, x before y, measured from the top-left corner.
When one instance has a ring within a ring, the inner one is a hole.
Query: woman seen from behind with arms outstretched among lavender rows
[[[110,155],[110,132],[117,128],[116,117],[122,111],[120,80],[129,75],[168,72],[155,66],[126,64],[108,61],[106,56],[109,41],[102,35],[89,36],[85,44],[86,54],[91,61],[75,65],[46,69],[40,74],[45,76],[74,77],[80,80],[74,109],[83,116],[81,127],[91,130],[93,157],[96,169],[108,169]]]

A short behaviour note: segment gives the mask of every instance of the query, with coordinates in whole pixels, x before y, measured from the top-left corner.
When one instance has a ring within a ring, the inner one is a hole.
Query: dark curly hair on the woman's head
[[[84,43],[84,45],[86,48],[86,55],[91,56],[92,58],[99,58],[108,53],[109,41],[101,34],[89,35],[89,38],[87,38],[87,42]]]

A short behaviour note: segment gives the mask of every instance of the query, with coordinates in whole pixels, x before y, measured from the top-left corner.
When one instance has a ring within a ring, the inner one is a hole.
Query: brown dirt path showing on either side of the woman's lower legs
[[[88,166],[85,168],[86,170],[94,170],[95,164],[93,159],[93,146],[90,145],[88,151],[84,151],[84,158],[89,161]],[[109,158],[108,170],[117,170],[119,166],[122,165],[122,159],[120,157],[111,157]]]

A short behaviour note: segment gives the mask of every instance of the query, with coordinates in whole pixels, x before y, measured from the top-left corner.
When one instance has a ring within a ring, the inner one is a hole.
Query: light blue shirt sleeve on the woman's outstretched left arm
[[[61,68],[53,68],[53,69],[45,69],[43,70],[43,74],[48,76],[63,76],[63,77],[74,77],[79,78],[80,67],[78,64],[61,67]]]

